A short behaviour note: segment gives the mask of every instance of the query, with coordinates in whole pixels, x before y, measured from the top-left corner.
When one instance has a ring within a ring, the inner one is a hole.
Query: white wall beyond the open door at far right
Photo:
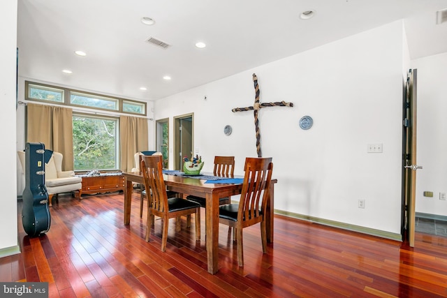
[[[447,193],[447,53],[411,61],[418,70],[418,170],[416,212],[447,216],[447,201],[439,193]],[[432,191],[433,198],[423,196]]]

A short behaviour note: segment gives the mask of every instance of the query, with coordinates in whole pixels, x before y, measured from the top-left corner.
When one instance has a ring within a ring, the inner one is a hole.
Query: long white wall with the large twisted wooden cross
[[[253,105],[256,73],[261,102],[295,105],[259,113],[263,156],[278,179],[274,208],[400,234],[404,47],[403,24],[393,22],[157,100],[155,118],[170,118],[173,144],[173,117],[194,112],[204,170],[214,155],[234,155],[242,174],[244,158],[256,156],[254,117],[231,109]],[[298,126],[305,115],[309,131]],[[370,143],[383,153],[367,154]]]

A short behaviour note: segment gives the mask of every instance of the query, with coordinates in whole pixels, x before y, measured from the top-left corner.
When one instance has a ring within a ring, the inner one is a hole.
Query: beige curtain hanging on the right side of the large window
[[[147,119],[140,117],[119,117],[119,137],[121,140],[121,170],[130,172],[135,167],[133,156],[148,150]]]

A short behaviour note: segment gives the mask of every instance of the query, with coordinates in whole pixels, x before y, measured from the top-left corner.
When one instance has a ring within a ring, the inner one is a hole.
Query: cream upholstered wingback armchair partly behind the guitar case
[[[22,164],[22,170],[25,172],[25,153],[17,151]],[[64,156],[59,152],[53,151],[48,163],[45,163],[45,186],[48,192],[48,206],[52,206],[52,198],[59,193],[70,193],[78,191],[79,198],[82,192],[82,178],[75,177],[73,171],[62,171],[62,159]]]

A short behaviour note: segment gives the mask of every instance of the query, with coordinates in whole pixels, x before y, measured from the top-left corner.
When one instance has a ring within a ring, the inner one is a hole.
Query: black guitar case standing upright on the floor
[[[25,145],[25,188],[22,199],[22,224],[30,237],[50,230],[50,209],[45,187],[45,145]]]

